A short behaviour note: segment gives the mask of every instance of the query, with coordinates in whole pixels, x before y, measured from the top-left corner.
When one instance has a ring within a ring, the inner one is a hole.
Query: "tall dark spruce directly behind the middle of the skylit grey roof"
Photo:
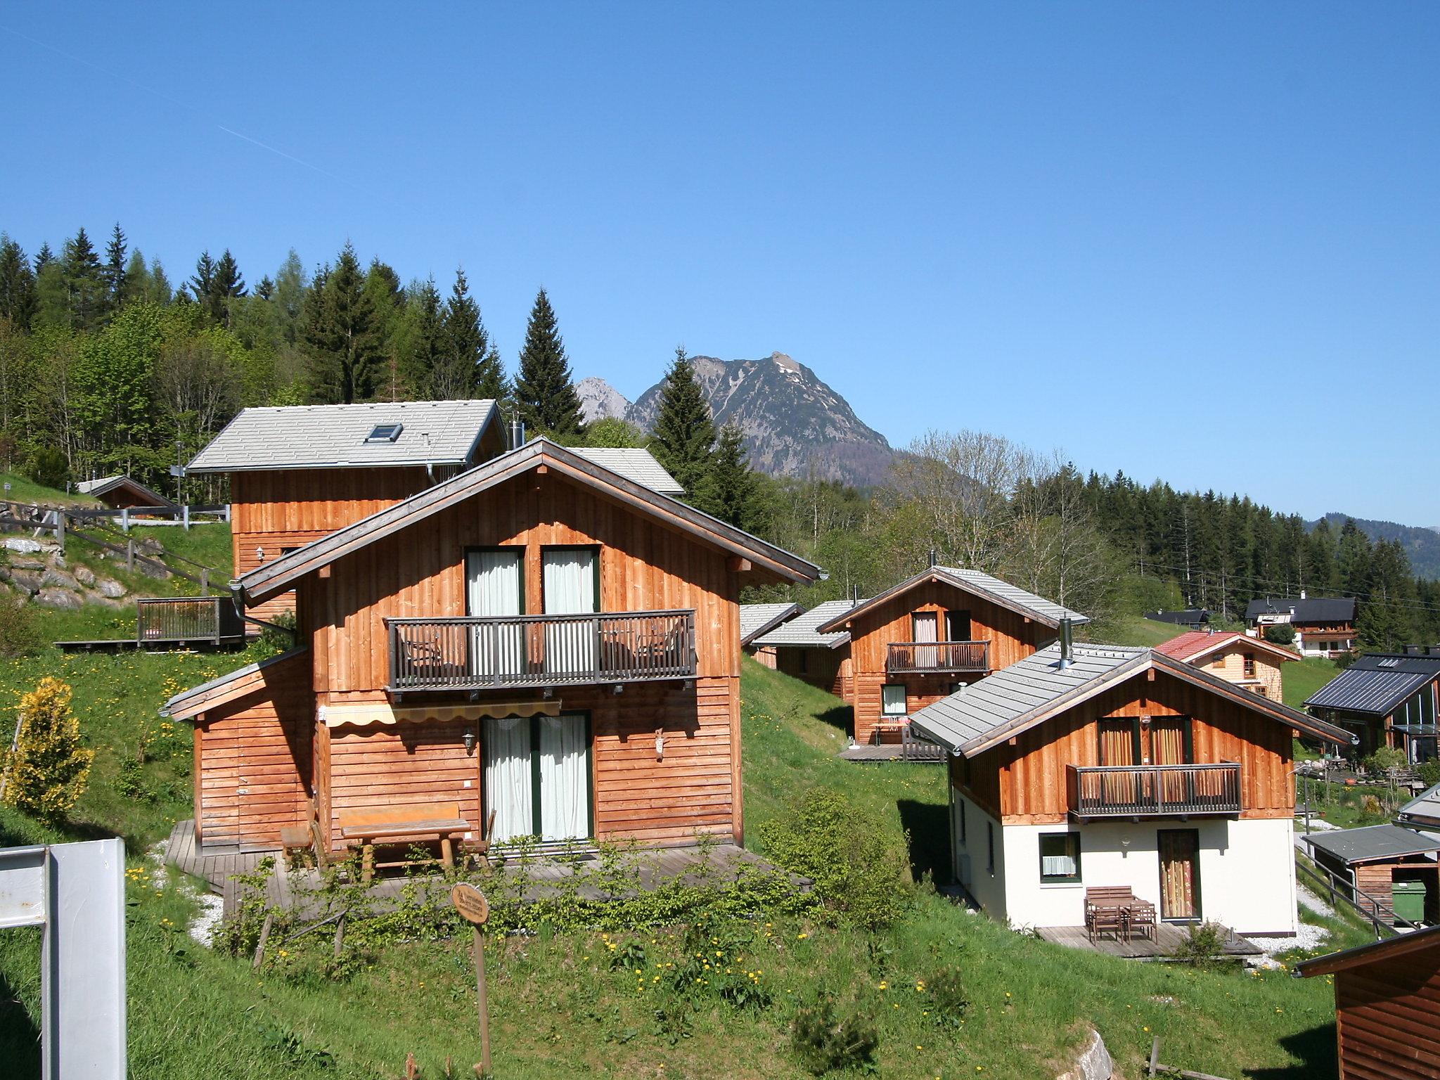
[[[307,304],[305,325],[311,399],[344,405],[370,400],[384,354],[351,245],[346,243],[333,269],[315,275],[312,292],[318,300]]]

